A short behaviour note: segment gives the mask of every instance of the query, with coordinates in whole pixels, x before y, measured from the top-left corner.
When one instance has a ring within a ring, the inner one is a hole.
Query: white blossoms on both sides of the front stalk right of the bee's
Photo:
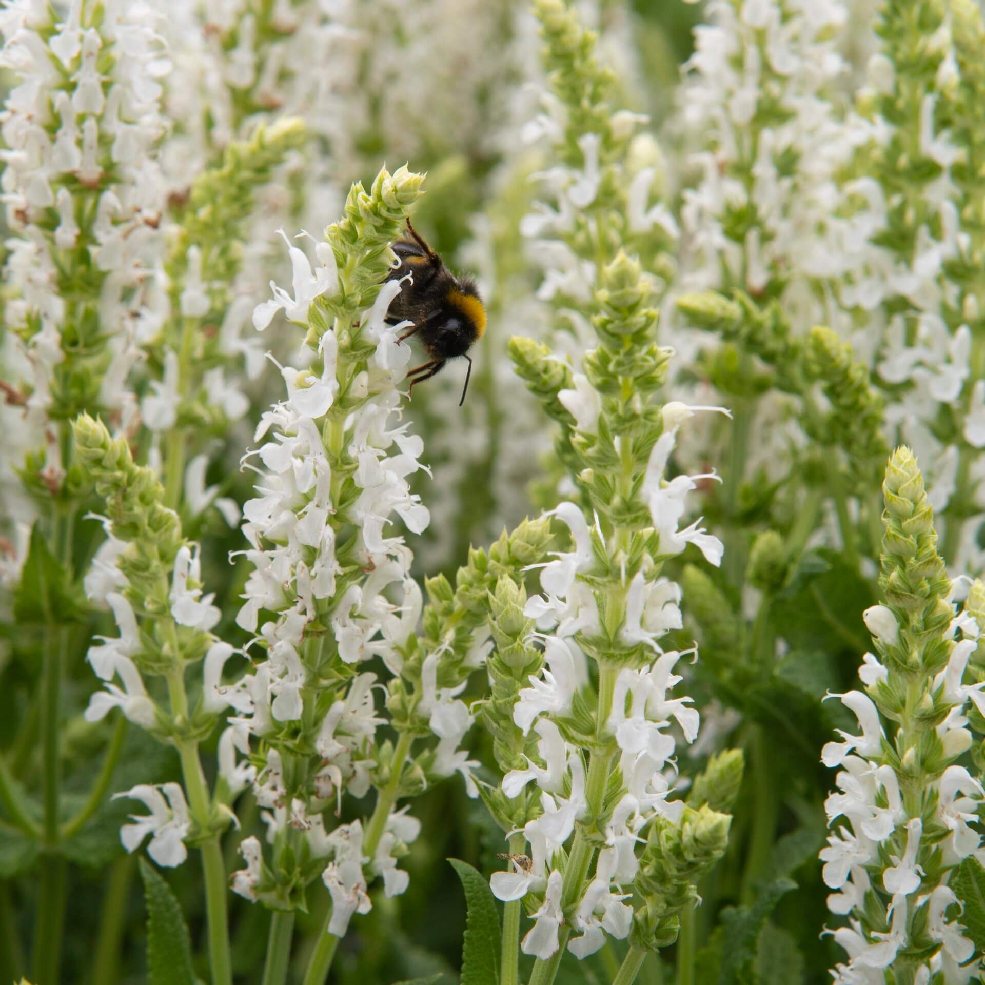
[[[673,417],[674,410],[670,410],[669,417]],[[717,538],[705,534],[696,523],[678,529],[684,493],[693,484],[688,477],[660,482],[673,431],[666,438],[654,449],[651,470],[656,478],[648,482],[653,488],[649,502],[659,536],[657,553],[673,557],[693,543],[717,564],[722,556]],[[537,758],[528,756],[526,768],[507,772],[502,779],[502,792],[510,800],[535,783],[540,811],[523,826],[530,857],[520,860],[522,865],[514,861],[510,872],[493,874],[491,883],[493,893],[504,901],[520,899],[528,892],[543,893],[522,950],[544,959],[558,950],[558,928],[563,923],[558,852],[571,838],[576,822],[585,821],[593,811],[598,813],[598,805],[591,810],[589,806],[584,753],[564,738],[561,727],[570,734],[576,697],[588,687],[587,662],[579,641],[604,637],[593,582],[583,576],[598,574],[599,555],[606,551],[601,530],[597,525],[589,528],[578,506],[561,503],[554,515],[568,527],[573,550],[544,566],[540,576],[544,594],[532,596],[525,606],[524,615],[535,621],[535,637],[544,646],[544,667],[519,691],[512,712],[524,736],[531,731],[538,736]],[[625,650],[641,647],[649,658],[644,658],[641,667],[618,671],[608,695],[608,716],[600,723],[614,738],[624,789],[600,831],[604,847],[573,917],[571,927],[577,936],[567,946],[579,958],[598,951],[607,934],[624,939],[629,933],[633,908],[624,900],[631,895],[639,872],[636,846],[645,840],[641,832],[655,817],[680,821],[685,802],[673,799],[677,735],[692,743],[698,733],[699,716],[690,707],[690,698],[670,693],[683,680],[674,673],[676,665],[695,651],[664,652],[657,642],[668,631],[682,627],[681,590],[665,577],[650,577],[646,563],[625,586],[617,646]],[[571,853],[570,845],[567,851]]]

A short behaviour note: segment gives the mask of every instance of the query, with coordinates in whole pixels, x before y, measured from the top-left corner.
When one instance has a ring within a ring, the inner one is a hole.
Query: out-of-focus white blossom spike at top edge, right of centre
[[[831,99],[844,64],[838,0],[716,0],[694,32],[678,123],[700,180],[684,190],[685,290],[782,289],[805,325],[830,323],[816,283],[852,262],[837,216],[852,131]]]

